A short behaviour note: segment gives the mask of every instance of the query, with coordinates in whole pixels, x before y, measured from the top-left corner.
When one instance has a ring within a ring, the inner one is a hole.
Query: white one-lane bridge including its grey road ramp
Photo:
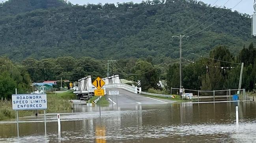
[[[110,98],[109,102],[112,103],[111,100],[115,100],[112,96],[108,95],[108,91],[119,91],[120,95],[118,96],[118,104],[126,106],[131,104],[144,104],[144,105],[152,105],[152,104],[166,104],[173,103],[172,100],[161,99],[158,100],[156,98],[146,97],[144,95],[150,96],[160,96],[173,98],[174,96],[163,95],[163,94],[153,94],[148,92],[142,92],[141,87],[131,86],[124,83],[121,83],[119,75],[113,75],[106,78],[102,78],[105,82],[103,89],[105,89],[106,99]],[[95,87],[92,85],[91,76],[86,76],[85,78],[81,78],[78,80],[78,87],[74,91],[80,100],[89,100],[93,96],[93,92]],[[115,96],[114,96],[115,97]]]

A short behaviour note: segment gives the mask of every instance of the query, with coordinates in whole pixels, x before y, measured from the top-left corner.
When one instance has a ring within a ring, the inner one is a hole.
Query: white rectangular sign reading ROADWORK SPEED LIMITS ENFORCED
[[[13,94],[13,110],[43,110],[47,109],[46,94]]]

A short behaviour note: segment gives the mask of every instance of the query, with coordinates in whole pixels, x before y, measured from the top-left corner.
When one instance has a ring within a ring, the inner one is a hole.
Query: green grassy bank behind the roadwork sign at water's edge
[[[73,91],[67,91],[58,94],[47,94],[47,113],[70,112],[70,99],[76,98]],[[35,110],[20,110],[19,117],[35,115]],[[43,110],[38,110],[39,114],[43,114]],[[14,119],[15,112],[12,110],[11,101],[0,100],[0,120]]]

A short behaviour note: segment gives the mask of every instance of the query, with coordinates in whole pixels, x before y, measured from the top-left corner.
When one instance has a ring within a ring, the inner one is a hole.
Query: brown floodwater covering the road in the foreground
[[[239,106],[239,125],[235,125]],[[42,116],[22,118],[17,138],[15,122],[0,122],[0,142],[177,143],[256,142],[256,103],[172,103],[133,107],[83,107],[61,114],[58,134],[56,114],[47,115],[47,136]],[[74,111],[75,112],[75,111]],[[33,119],[34,118],[34,119]]]

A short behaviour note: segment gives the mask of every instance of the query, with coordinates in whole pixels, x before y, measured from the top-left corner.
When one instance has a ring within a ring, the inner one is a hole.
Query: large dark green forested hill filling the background
[[[6,15],[0,17],[0,55],[15,61],[27,57],[91,56],[151,57],[160,63],[179,57],[179,40],[172,39],[173,35],[192,24],[182,34],[195,29],[190,33],[194,34],[224,14],[205,31],[188,40],[184,38],[183,48],[206,55],[216,45],[226,44],[235,53],[253,42],[248,15],[195,0],[153,0],[117,6],[72,5],[61,0],[9,1],[0,5],[0,13]],[[183,52],[183,56],[196,58],[189,52]]]

